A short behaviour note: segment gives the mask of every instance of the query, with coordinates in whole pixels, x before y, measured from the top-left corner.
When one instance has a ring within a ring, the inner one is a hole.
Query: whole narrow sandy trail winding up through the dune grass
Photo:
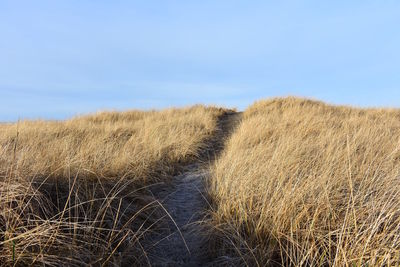
[[[152,233],[144,244],[151,266],[212,266],[209,254],[210,236],[201,224],[209,207],[205,181],[208,164],[223,150],[241,118],[241,113],[227,113],[218,122],[218,131],[209,140],[209,149],[202,151],[199,162],[186,166],[172,182],[154,187],[151,191],[162,204],[169,223]]]

